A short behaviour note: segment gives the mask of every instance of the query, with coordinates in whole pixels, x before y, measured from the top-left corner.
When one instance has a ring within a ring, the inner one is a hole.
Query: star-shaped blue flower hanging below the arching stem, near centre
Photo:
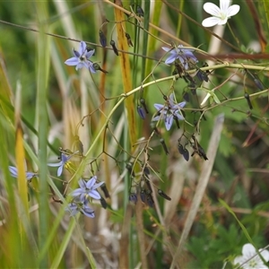
[[[184,120],[184,117],[179,113],[180,108],[184,108],[186,102],[175,103],[173,99],[173,94],[171,93],[166,104],[154,104],[154,107],[158,110],[158,115],[152,118],[152,121],[158,121],[160,119],[164,120],[166,129],[169,131],[173,124],[174,117],[178,120]]]

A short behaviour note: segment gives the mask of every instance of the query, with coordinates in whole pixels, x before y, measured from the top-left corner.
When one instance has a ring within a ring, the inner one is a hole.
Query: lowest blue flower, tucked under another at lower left
[[[89,206],[89,201],[86,197],[76,197],[72,203],[68,204],[65,209],[70,212],[70,216],[74,216],[76,213],[82,213],[86,217],[94,218],[95,214],[93,209]]]

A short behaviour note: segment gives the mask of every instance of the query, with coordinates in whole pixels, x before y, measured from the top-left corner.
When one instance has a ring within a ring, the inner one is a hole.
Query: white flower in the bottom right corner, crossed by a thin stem
[[[264,249],[259,249],[259,253],[261,256],[264,257],[265,261],[269,261],[269,251]],[[257,255],[255,247],[253,247],[251,244],[245,244],[242,248],[242,254],[243,256],[237,256],[233,264],[234,265],[240,265],[239,268],[244,269],[250,269],[250,268],[256,268],[256,269],[263,269],[268,268],[262,261],[262,259]]]

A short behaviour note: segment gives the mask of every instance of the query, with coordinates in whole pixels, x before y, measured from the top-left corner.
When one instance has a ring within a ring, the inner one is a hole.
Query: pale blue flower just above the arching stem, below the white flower
[[[179,59],[180,63],[184,66],[185,70],[188,69],[188,62],[192,61],[194,64],[198,62],[197,58],[194,56],[192,51],[194,49],[189,48],[181,48],[183,45],[179,45],[178,48],[167,48],[161,47],[163,50],[169,52],[168,58],[165,60],[165,64],[169,65],[174,63],[177,59]]]

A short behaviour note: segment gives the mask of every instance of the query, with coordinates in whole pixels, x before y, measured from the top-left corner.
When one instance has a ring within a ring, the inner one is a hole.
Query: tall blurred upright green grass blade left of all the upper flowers
[[[48,18],[47,2],[37,2],[36,9],[39,17],[39,42],[38,42],[38,97],[37,117],[39,122],[39,248],[46,244],[48,237],[48,182],[47,182],[47,138],[48,138],[48,36],[46,22]],[[48,256],[40,261],[39,267],[48,267]]]

